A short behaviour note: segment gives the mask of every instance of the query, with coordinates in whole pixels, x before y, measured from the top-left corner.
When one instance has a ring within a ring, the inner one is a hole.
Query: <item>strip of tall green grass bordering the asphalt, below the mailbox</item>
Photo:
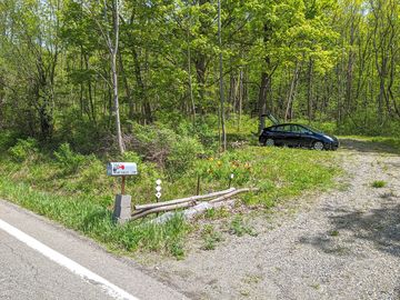
[[[67,197],[36,191],[27,183],[0,178],[0,196],[38,214],[106,244],[117,251],[158,251],[183,256],[189,226],[177,214],[163,226],[132,221],[113,222],[110,210],[84,196]]]

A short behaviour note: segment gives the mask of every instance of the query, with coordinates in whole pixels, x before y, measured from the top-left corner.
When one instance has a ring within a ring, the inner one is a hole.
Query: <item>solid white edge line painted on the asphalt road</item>
[[[0,229],[9,233],[10,236],[14,237],[19,241],[26,243],[30,248],[37,250],[44,257],[49,258],[50,260],[57,262],[58,264],[67,268],[71,272],[76,273],[83,280],[88,282],[96,282],[112,298],[119,300],[139,300],[138,298],[131,296],[127,291],[118,288],[117,286],[112,284],[107,279],[93,273],[92,271],[88,270],[87,268],[80,266],[79,263],[74,262],[73,260],[62,256],[61,253],[52,250],[51,248],[47,247],[46,244],[41,243],[40,241],[33,239],[32,237],[28,236],[27,233],[22,232],[21,230],[10,226],[9,223],[4,222],[0,219]]]

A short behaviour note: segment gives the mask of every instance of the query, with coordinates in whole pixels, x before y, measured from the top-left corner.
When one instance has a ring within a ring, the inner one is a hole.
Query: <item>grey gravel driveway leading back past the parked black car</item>
[[[154,273],[191,299],[400,299],[400,157],[342,143],[342,188],[292,201],[296,213],[259,216],[257,237],[192,250]]]

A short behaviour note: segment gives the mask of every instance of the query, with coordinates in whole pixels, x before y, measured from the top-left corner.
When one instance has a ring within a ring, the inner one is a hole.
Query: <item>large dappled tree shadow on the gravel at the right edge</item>
[[[312,244],[326,253],[350,256],[360,254],[358,240],[363,240],[372,242],[368,248],[400,257],[400,204],[393,206],[391,202],[368,212],[334,210],[334,213],[338,216],[330,217],[329,231],[316,237],[302,237],[300,242]],[[350,237],[343,234],[344,231],[350,231]]]

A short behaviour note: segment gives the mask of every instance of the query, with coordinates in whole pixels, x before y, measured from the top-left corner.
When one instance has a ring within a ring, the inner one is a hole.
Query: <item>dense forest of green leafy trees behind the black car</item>
[[[153,124],[218,128],[223,146],[268,111],[390,134],[399,12],[396,0],[2,0],[0,128],[83,152],[123,152]]]

